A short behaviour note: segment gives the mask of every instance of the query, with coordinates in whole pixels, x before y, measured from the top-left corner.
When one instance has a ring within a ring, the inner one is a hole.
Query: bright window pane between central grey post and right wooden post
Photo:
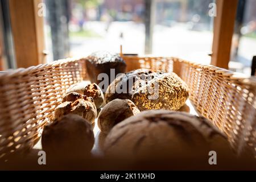
[[[210,63],[213,18],[208,15],[213,1],[156,1],[153,53]]]

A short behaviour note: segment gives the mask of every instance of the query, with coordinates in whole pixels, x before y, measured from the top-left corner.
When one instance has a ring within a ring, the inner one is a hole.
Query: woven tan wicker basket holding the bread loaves
[[[190,89],[196,110],[210,119],[239,153],[256,156],[256,79],[237,77],[212,65],[172,57],[123,57],[127,71],[138,68],[176,72]],[[0,158],[30,150],[50,122],[65,90],[86,80],[85,59],[51,64],[0,75]]]

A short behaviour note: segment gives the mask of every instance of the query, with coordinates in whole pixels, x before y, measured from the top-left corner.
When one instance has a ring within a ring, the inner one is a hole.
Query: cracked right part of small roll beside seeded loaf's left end
[[[89,84],[84,89],[84,95],[87,97],[92,97],[96,108],[99,109],[104,102],[104,95],[100,89],[100,87],[93,83]]]

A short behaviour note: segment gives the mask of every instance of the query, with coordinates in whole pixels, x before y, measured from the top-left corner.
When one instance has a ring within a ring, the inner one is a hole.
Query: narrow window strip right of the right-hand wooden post
[[[240,0],[233,35],[230,69],[250,76],[251,60],[256,56],[256,1]]]

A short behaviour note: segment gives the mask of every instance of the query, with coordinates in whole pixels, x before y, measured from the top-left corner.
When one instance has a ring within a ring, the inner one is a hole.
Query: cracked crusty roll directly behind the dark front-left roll
[[[55,119],[63,117],[63,115],[66,114],[80,115],[94,126],[94,120],[97,117],[97,109],[92,97],[83,96],[73,102],[66,101],[61,103],[54,111]]]

